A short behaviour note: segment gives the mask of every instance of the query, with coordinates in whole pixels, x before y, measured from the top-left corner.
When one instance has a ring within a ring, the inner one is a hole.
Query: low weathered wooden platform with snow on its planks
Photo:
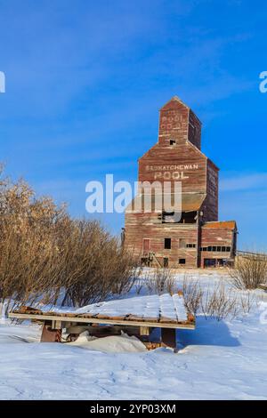
[[[124,313],[130,308],[133,314]],[[137,314],[141,310],[143,313]],[[116,312],[121,314],[114,315]],[[62,329],[69,333],[68,341],[73,341],[72,338],[77,338],[85,329],[98,337],[125,331],[138,336],[148,349],[154,349],[158,344],[175,349],[175,330],[195,328],[195,318],[186,312],[182,293],[95,303],[74,311],[45,311],[22,306],[13,310],[9,318],[42,324],[41,342],[61,342]],[[158,343],[150,341],[150,334],[155,328],[161,329],[161,341]]]

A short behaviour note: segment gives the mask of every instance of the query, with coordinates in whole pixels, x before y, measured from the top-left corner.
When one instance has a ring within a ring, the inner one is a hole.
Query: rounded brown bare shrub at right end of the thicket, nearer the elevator
[[[66,295],[63,304],[83,306],[128,292],[134,259],[98,222],[77,221],[63,245]]]

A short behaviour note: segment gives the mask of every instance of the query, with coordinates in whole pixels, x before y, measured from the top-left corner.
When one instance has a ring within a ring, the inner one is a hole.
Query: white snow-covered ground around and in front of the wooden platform
[[[207,285],[220,277],[199,279]],[[143,351],[126,337],[109,337],[105,349],[86,336],[76,344],[39,343],[38,326],[7,322],[0,325],[0,398],[267,399],[263,309],[265,295],[231,321],[199,316],[195,331],[178,330],[178,354]],[[103,352],[115,347],[132,352]]]

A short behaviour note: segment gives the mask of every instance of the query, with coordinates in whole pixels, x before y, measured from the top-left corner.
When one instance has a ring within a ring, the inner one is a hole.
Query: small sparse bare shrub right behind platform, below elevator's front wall
[[[149,293],[170,293],[177,291],[174,280],[174,273],[170,269],[155,269],[150,276],[143,280]]]

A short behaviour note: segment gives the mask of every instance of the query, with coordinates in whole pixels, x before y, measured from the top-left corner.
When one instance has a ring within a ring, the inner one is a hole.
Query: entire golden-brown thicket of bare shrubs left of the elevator
[[[123,293],[134,259],[96,221],[76,221],[25,181],[0,176],[0,302],[74,305]]]

